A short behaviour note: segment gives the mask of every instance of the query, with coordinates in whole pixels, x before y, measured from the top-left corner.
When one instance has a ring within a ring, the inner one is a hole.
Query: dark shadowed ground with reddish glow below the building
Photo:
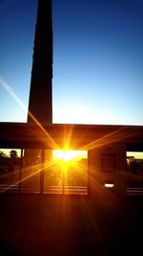
[[[0,255],[142,255],[143,198],[1,195]]]

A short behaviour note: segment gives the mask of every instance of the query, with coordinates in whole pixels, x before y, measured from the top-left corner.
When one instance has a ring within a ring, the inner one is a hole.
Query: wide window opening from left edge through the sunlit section
[[[88,151],[0,150],[0,190],[88,195]]]

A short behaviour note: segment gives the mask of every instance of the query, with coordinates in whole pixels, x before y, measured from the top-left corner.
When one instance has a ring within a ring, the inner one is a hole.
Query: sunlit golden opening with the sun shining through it
[[[88,152],[51,151],[46,157],[45,192],[88,194]]]

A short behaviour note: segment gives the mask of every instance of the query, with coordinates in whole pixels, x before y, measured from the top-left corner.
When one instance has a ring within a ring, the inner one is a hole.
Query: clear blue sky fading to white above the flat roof
[[[143,125],[143,0],[52,4],[53,123]],[[0,122],[27,121],[36,9],[0,0]]]

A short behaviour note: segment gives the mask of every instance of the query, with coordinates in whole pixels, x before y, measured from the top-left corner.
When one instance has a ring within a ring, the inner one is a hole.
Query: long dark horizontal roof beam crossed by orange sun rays
[[[0,148],[58,149],[101,147],[107,144],[143,145],[141,126],[0,123]]]

